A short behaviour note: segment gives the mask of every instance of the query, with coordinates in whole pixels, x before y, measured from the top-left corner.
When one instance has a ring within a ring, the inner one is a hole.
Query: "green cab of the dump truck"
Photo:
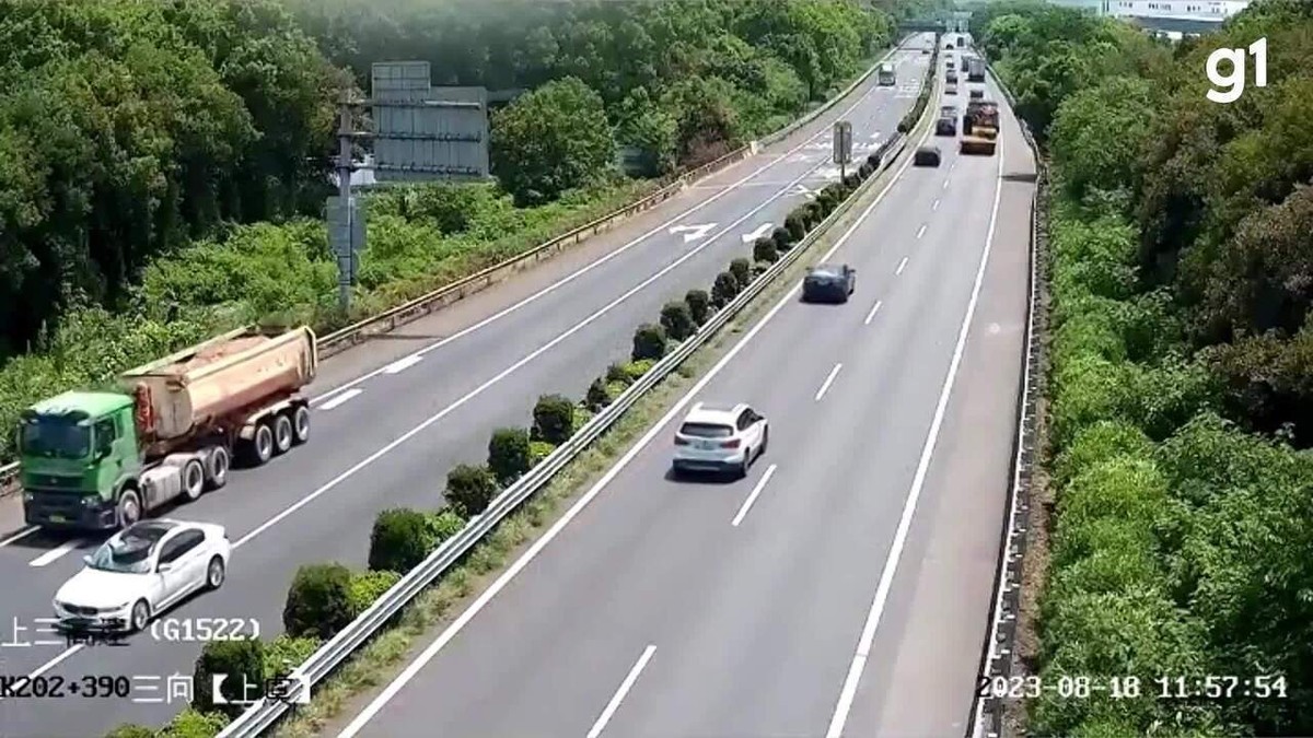
[[[71,391],[46,399],[22,412],[17,440],[29,525],[117,527],[117,492],[142,466],[131,397]]]

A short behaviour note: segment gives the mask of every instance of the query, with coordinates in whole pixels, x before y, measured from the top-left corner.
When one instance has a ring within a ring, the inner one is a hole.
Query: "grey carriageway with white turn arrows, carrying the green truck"
[[[168,616],[246,619],[265,636],[280,632],[298,566],[364,566],[378,511],[437,506],[446,470],[482,460],[495,427],[528,424],[540,394],[582,397],[626,358],[638,323],[688,289],[709,288],[730,259],[750,253],[746,235],[780,225],[807,190],[835,179],[834,119],[852,121],[859,148],[892,135],[919,88],[924,43],[895,53],[899,85],[877,88],[872,76],[798,134],[575,252],[324,362],[307,446],[234,473],[225,490],[168,513],[223,524],[236,546],[223,590]],[[14,499],[0,502],[0,529],[13,531],[0,533],[0,675],[140,678],[130,700],[0,700],[0,735],[101,735],[179,712],[165,680],[192,672],[200,643],[147,633],[125,647],[66,647],[38,632],[55,590],[98,540],[26,533]]]

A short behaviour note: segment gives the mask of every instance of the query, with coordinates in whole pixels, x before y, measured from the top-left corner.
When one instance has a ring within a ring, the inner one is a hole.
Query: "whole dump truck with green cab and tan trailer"
[[[113,531],[222,487],[234,456],[259,466],[310,439],[301,394],[314,331],[240,328],[125,372],[118,390],[75,390],[18,420],[30,525]]]

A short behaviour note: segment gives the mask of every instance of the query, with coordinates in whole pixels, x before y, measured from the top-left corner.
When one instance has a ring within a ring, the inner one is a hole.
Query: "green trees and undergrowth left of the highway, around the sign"
[[[892,34],[856,0],[9,3],[0,449],[42,397],[252,320],[332,330],[616,210],[796,118]],[[494,112],[495,181],[369,197],[343,315],[334,102],[398,58],[528,92]]]

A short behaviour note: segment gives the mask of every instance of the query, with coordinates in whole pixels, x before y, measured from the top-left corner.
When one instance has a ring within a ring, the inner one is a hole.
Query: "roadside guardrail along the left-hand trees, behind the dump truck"
[[[642,213],[643,210],[649,210],[651,207],[655,207],[656,205],[660,205],[662,202],[666,202],[667,200],[675,197],[676,194],[683,192],[687,186],[696,183],[697,180],[706,177],[735,162],[747,159],[748,156],[756,154],[763,146],[771,146],[773,143],[784,141],[789,135],[797,133],[800,129],[815,121],[823,113],[838,105],[840,100],[852,95],[855,89],[857,89],[859,87],[861,87],[863,83],[871,79],[871,75],[874,74],[874,71],[880,67],[880,64],[888,60],[895,51],[898,51],[898,49],[902,47],[902,45],[907,41],[907,38],[910,37],[902,38],[897,46],[890,49],[884,56],[880,58],[878,62],[867,68],[867,71],[863,72],[861,76],[857,77],[852,84],[844,88],[843,92],[835,95],[834,97],[827,100],[823,105],[821,105],[815,110],[811,110],[810,113],[805,114],[797,121],[789,123],[788,126],[772,134],[768,134],[767,137],[759,141],[754,141],[746,146],[741,146],[734,151],[725,154],[723,156],[708,162],[706,164],[701,164],[700,167],[695,167],[687,172],[683,172],[671,179],[670,184],[662,186],[660,189],[649,194],[647,197],[630,202],[629,205],[625,205],[618,210],[613,210],[595,221],[590,221],[576,228],[561,234],[559,236],[544,242],[530,248],[529,251],[525,251],[524,253],[512,256],[511,259],[494,264],[486,269],[481,269],[467,277],[460,278],[448,285],[442,285],[441,288],[437,288],[433,292],[416,297],[415,299],[411,299],[403,305],[398,305],[397,307],[390,307],[377,315],[364,318],[361,320],[357,320],[356,323],[352,323],[351,326],[319,336],[318,341],[319,357],[327,358],[335,353],[341,353],[343,351],[347,351],[348,348],[368,340],[370,336],[395,331],[399,326],[423,318],[424,315],[428,315],[435,310],[441,310],[442,307],[446,307],[453,302],[460,302],[461,299],[465,299],[466,297],[482,292],[488,286],[496,284],[507,274],[525,269],[527,267],[530,267],[541,261],[542,259],[559,252],[563,248],[575,246],[576,243],[584,240],[588,236],[593,236],[601,231],[605,231],[609,227],[617,225],[618,222],[625,221],[629,217],[634,215],[635,213]],[[17,479],[18,479],[17,462],[0,466],[0,496],[4,496],[14,491],[14,488],[17,488]]]

